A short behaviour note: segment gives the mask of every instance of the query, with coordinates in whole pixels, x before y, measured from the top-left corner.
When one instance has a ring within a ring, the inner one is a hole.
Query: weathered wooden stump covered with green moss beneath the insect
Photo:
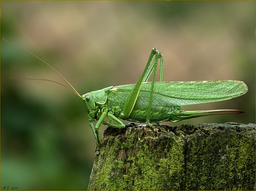
[[[88,190],[255,190],[255,124],[108,127]]]

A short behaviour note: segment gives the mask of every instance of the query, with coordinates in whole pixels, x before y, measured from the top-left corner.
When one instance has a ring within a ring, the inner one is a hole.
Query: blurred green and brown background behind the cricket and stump
[[[244,114],[162,124],[255,123],[254,1],[1,1],[1,38],[81,95],[136,83],[157,48],[163,81],[233,79],[249,88],[184,106]],[[10,77],[65,84],[1,39],[1,189],[86,190],[96,141],[82,100],[55,83]]]

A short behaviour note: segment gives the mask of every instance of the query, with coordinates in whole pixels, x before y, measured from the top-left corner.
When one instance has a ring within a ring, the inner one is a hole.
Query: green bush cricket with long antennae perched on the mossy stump
[[[12,42],[9,43],[13,44]],[[19,46],[17,47],[21,48]],[[28,52],[23,48],[21,49]],[[38,58],[32,53],[28,53]],[[38,59],[44,62],[42,59]],[[160,77],[159,82],[155,82],[156,69],[159,59]],[[48,63],[44,63],[52,68],[52,66],[50,66]],[[92,128],[93,135],[96,139],[97,154],[99,154],[100,148],[100,137],[98,130],[101,124],[116,128],[124,128],[125,124],[120,120],[123,119],[126,121],[146,123],[149,127],[154,128],[151,123],[161,123],[164,121],[177,122],[216,114],[244,113],[240,110],[231,109],[185,111],[185,109],[181,108],[180,106],[236,98],[246,93],[248,91],[248,87],[244,82],[236,80],[163,82],[163,64],[163,55],[158,52],[156,48],[153,48],[149,55],[146,67],[136,84],[119,85],[115,87],[110,86],[101,90],[86,93],[82,96],[54,68],[52,69],[57,72],[70,85],[71,88],[52,80],[35,80],[52,81],[61,84],[83,100],[85,108],[88,112],[90,127]],[[152,82],[148,82],[148,78],[152,72]],[[104,121],[106,116],[109,119],[108,122]],[[95,121],[97,122],[94,126],[92,122]]]

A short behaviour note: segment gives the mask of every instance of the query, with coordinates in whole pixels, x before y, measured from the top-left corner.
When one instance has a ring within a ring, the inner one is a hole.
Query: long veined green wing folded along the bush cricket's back
[[[115,86],[108,99],[124,103],[135,84]],[[141,85],[136,104],[148,105],[151,82]],[[152,106],[183,106],[236,98],[248,91],[244,82],[236,80],[156,82]]]

